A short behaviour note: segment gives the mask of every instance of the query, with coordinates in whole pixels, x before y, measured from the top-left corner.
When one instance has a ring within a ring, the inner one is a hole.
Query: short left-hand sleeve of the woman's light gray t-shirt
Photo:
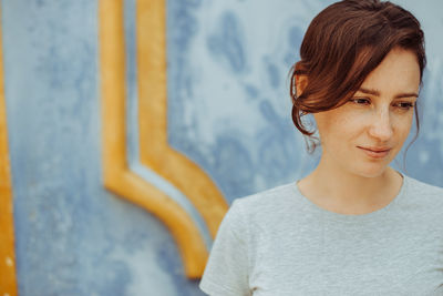
[[[238,201],[226,213],[199,287],[210,296],[251,295],[248,285],[247,228]]]

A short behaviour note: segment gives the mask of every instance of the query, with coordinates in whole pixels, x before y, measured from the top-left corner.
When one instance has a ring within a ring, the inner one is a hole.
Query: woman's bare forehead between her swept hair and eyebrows
[[[420,65],[413,51],[395,48],[365,78],[362,88],[380,93],[418,92]]]

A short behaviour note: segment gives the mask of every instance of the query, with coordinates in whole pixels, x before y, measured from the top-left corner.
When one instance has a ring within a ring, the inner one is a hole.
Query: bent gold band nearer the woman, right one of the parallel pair
[[[165,0],[137,1],[140,157],[190,200],[215,237],[226,201],[197,164],[167,143],[165,7]]]

